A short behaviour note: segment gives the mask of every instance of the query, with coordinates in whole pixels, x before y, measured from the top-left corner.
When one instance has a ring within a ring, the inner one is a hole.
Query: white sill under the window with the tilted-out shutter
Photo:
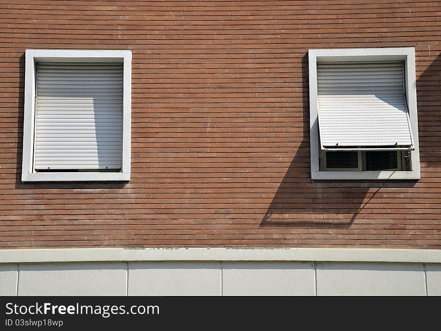
[[[332,180],[389,180],[420,179],[417,171],[312,171],[311,179]]]

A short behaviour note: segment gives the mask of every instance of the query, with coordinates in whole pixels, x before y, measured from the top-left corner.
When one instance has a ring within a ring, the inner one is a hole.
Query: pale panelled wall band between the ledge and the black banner
[[[0,264],[0,295],[441,295],[440,263]]]

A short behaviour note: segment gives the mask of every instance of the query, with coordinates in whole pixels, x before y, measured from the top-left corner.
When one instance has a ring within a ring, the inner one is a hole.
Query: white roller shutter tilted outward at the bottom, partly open
[[[403,62],[317,64],[322,149],[412,149]]]

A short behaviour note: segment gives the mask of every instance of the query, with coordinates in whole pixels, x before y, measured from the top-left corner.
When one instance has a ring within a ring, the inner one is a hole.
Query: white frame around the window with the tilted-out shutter
[[[420,179],[418,120],[416,110],[415,49],[403,48],[366,48],[366,49],[321,49],[309,50],[309,112],[310,112],[310,149],[311,179],[342,180],[386,180]],[[405,92],[410,118],[410,130],[414,150],[411,151],[411,171],[320,171],[319,167],[319,122],[317,97],[317,62],[330,61],[404,61]]]

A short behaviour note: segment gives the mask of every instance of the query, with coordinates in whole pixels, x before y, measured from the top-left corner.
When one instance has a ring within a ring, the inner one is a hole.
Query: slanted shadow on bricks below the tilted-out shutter
[[[413,182],[385,185],[383,182],[312,181],[304,176],[310,175],[310,168],[299,167],[306,151],[309,154],[309,143],[302,142],[262,219],[261,227],[348,228],[357,217],[364,217],[364,208],[375,202],[381,188],[414,185]]]

